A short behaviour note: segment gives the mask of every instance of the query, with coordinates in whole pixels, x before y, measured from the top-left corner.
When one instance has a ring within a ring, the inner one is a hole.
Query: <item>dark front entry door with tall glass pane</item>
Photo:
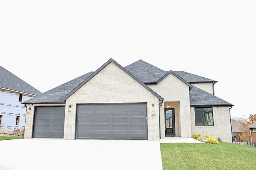
[[[165,135],[175,136],[174,108],[165,109]]]

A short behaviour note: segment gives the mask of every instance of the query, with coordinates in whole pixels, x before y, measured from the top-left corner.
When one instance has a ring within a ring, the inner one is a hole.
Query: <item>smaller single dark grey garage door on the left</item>
[[[36,107],[34,138],[63,138],[65,106]]]

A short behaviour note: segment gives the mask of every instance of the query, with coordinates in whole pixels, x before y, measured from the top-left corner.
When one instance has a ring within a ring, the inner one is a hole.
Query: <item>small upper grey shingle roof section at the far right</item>
[[[217,81],[215,80],[211,80],[209,78],[205,78],[205,77],[201,77],[201,76],[197,76],[195,74],[191,74],[185,71],[174,71],[176,74],[178,74],[179,76],[181,76],[184,80],[186,80],[187,82],[214,82],[216,83]]]

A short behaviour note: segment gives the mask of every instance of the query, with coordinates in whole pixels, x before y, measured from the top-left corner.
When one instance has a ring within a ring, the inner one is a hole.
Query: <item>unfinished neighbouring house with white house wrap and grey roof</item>
[[[0,133],[25,129],[26,106],[21,104],[42,94],[0,66]]]

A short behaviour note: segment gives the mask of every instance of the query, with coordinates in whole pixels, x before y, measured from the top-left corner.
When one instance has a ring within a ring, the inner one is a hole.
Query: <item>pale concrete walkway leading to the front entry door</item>
[[[203,143],[193,138],[184,137],[164,137],[160,139],[160,143]]]

